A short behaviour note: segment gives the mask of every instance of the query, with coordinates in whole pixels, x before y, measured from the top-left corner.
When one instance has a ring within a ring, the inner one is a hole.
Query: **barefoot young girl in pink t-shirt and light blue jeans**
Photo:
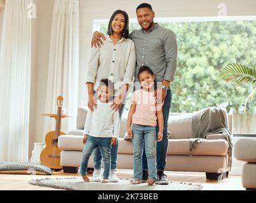
[[[145,153],[149,168],[148,185],[156,181],[156,126],[158,122],[158,141],[163,138],[163,112],[161,96],[156,96],[155,75],[149,67],[138,71],[141,89],[134,91],[127,121],[127,133],[133,143],[133,184],[142,180],[142,151],[145,142]],[[131,129],[132,124],[132,129]]]

